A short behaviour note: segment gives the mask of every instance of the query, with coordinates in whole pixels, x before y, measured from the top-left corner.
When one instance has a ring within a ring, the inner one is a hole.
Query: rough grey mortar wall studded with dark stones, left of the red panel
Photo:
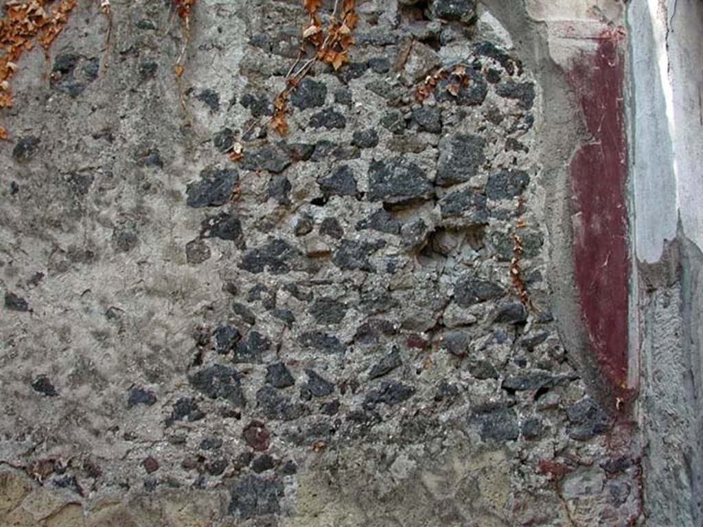
[[[3,525],[638,519],[554,269],[586,126],[522,4],[359,1],[285,138],[298,1],[198,1],[187,115],[169,3],[113,2],[108,46],[98,7],[0,115]]]

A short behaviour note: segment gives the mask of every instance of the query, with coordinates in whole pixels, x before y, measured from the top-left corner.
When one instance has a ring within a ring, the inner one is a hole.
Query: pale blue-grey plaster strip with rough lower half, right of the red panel
[[[654,525],[701,525],[703,5],[633,3],[628,26],[638,306],[631,353],[641,364],[645,514]]]

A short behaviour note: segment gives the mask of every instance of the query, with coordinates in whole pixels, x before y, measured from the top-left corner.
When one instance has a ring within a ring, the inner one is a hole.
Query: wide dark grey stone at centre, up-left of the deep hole
[[[372,161],[368,170],[368,199],[388,204],[408,204],[427,200],[433,193],[432,183],[418,165],[394,157],[387,162]]]

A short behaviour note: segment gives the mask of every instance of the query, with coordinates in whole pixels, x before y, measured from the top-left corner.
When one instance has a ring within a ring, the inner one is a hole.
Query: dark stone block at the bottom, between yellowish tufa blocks
[[[249,474],[231,487],[228,513],[240,519],[280,513],[283,483],[278,479]]]

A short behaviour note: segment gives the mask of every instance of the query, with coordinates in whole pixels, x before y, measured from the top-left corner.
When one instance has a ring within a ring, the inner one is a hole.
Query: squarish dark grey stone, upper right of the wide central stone
[[[484,138],[479,136],[456,134],[442,138],[439,141],[437,184],[446,187],[469,181],[486,161],[485,145]]]

